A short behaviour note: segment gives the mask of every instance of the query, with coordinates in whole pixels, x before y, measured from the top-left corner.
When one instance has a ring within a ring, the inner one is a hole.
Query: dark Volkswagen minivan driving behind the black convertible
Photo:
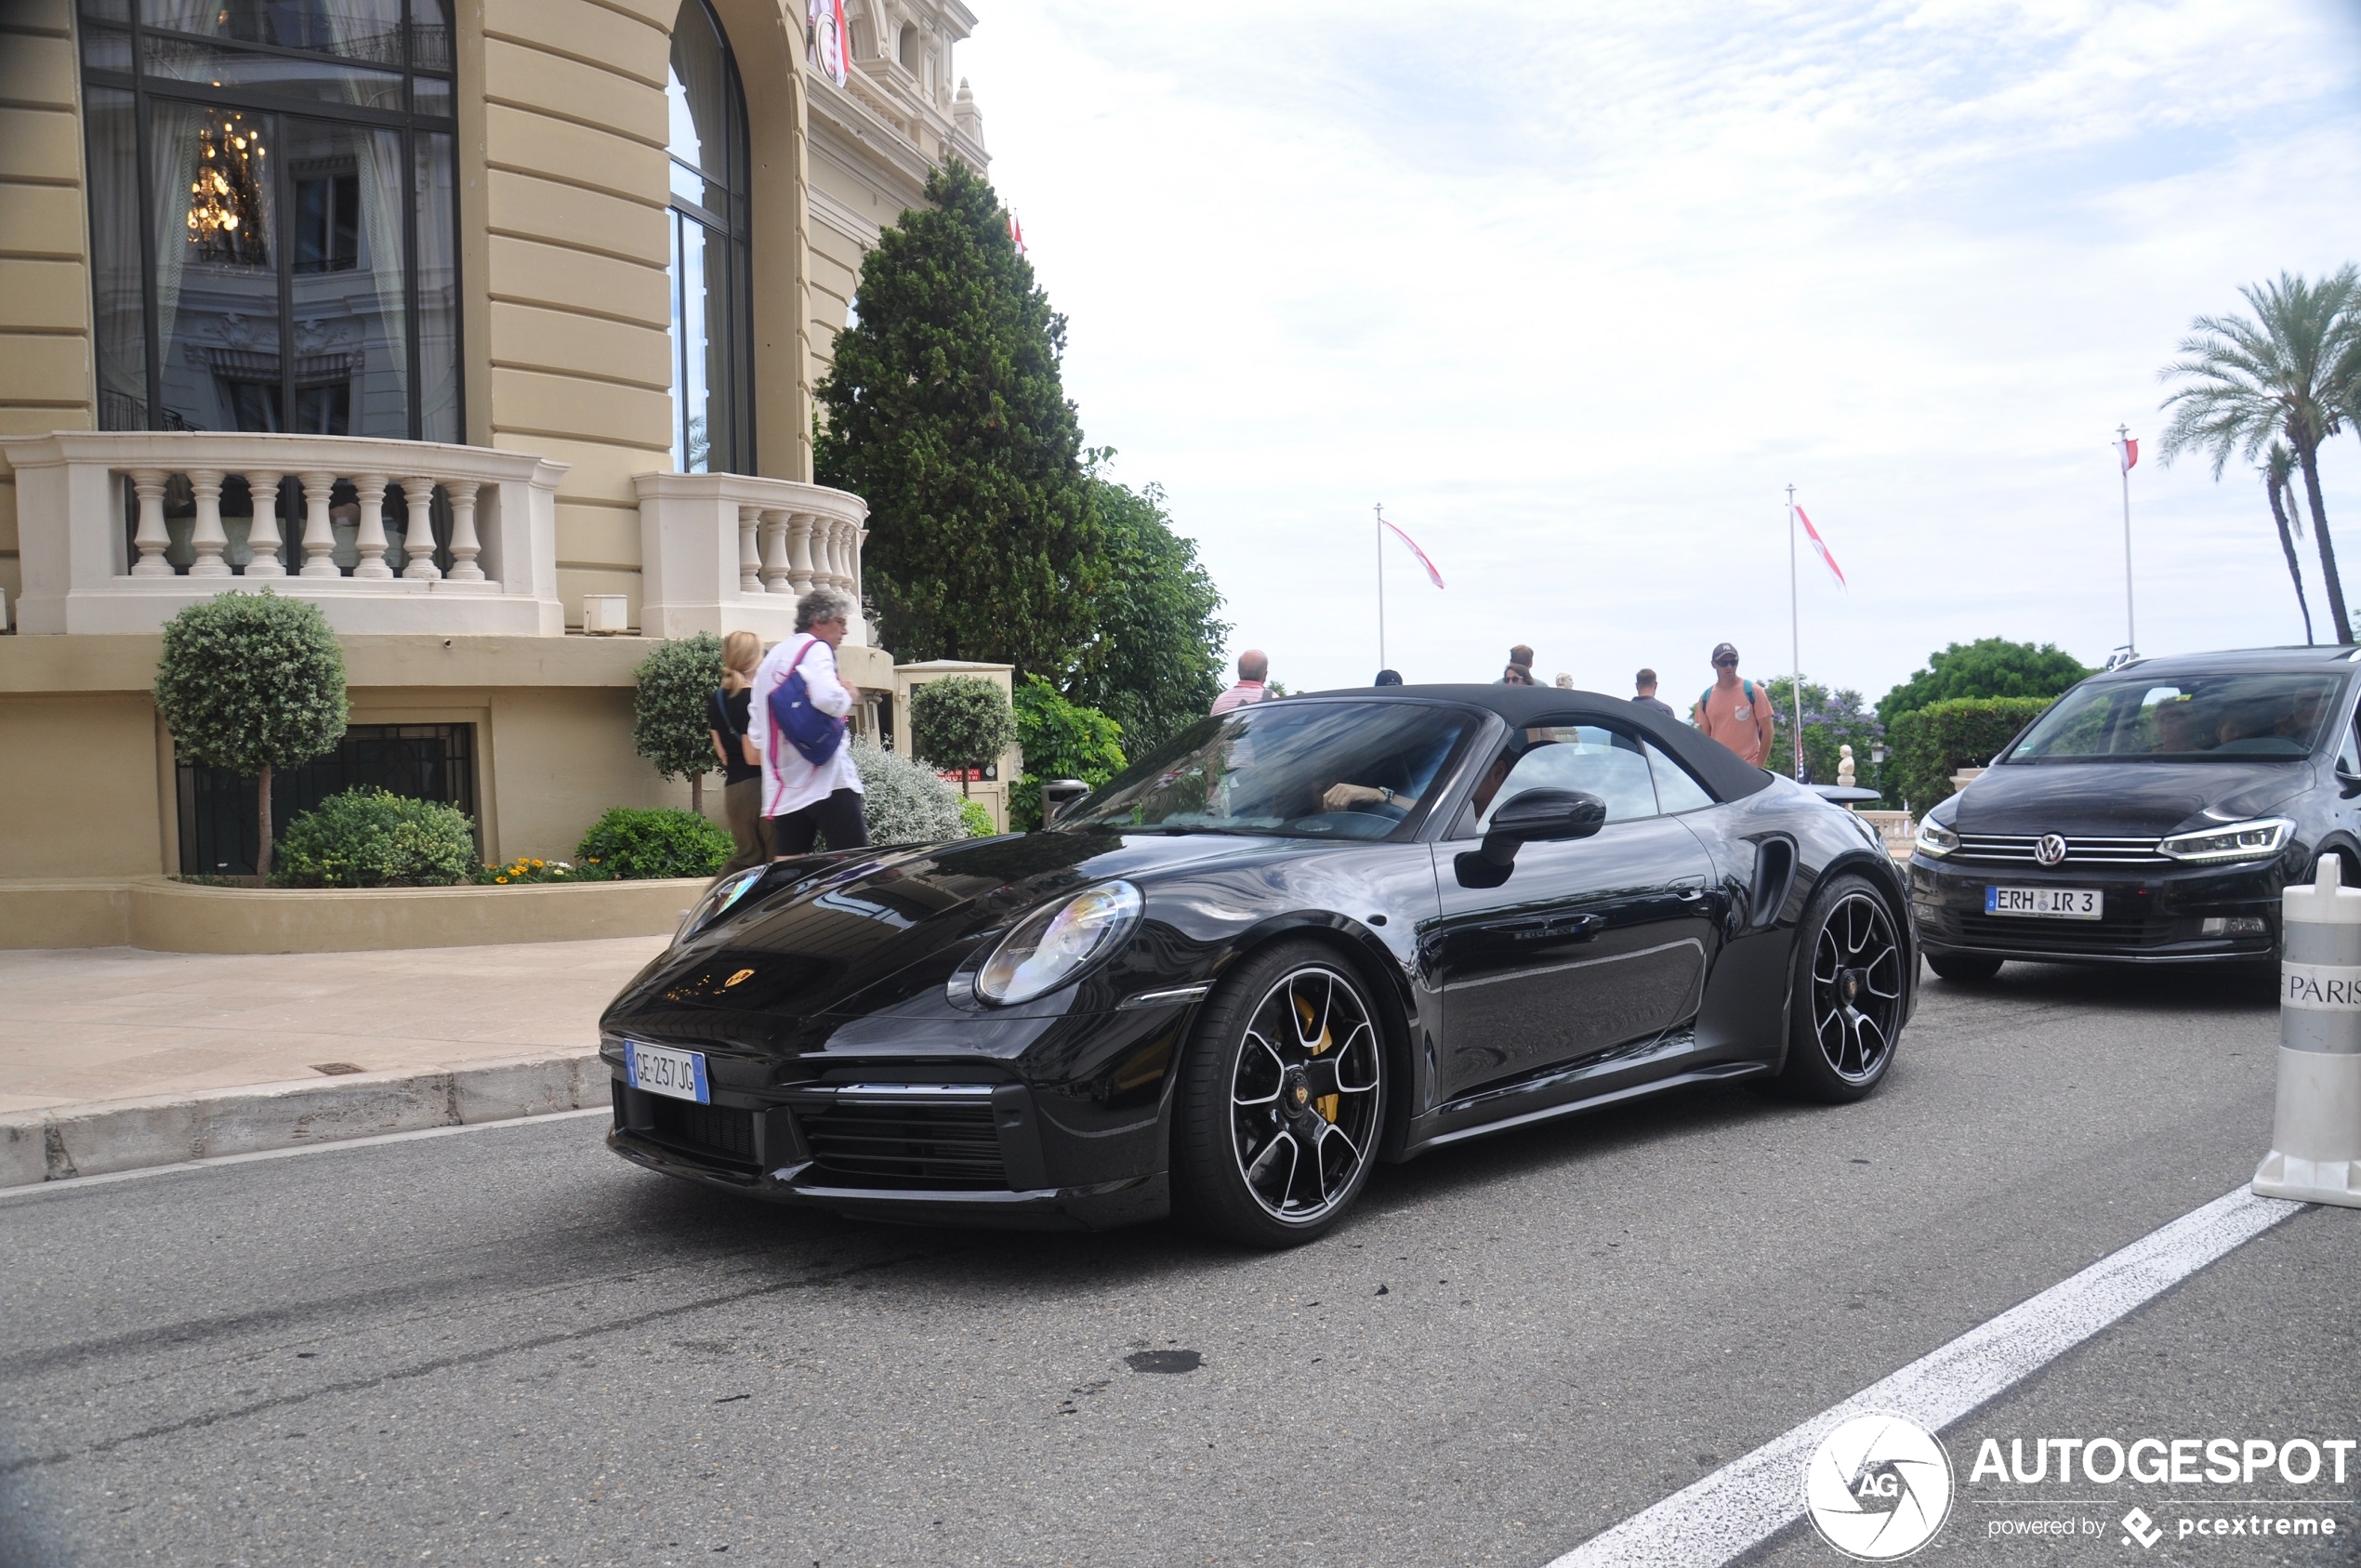
[[[2259,963],[2319,857],[2361,883],[2349,647],[2139,659],[2073,687],[1919,824],[1927,963]]]

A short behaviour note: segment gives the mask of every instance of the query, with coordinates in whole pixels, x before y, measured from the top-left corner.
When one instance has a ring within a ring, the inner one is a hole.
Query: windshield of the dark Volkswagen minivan
[[[2012,763],[2300,758],[2337,708],[2342,675],[2184,675],[2075,687],[2016,741]]]

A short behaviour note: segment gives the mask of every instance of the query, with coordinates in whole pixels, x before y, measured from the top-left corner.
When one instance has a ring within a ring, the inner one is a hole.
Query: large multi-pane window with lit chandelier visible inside
[[[446,0],[80,0],[104,430],[458,442]]]

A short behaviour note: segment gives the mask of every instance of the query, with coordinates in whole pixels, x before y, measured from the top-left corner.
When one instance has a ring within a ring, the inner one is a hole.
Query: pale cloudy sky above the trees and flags
[[[1872,699],[1981,635],[2125,640],[2118,423],[2191,316],[2361,260],[2354,0],[973,0],[1067,392],[1296,690],[1509,642],[1676,699],[1707,649]],[[2361,595],[2361,439],[2326,456]],[[2300,642],[2262,484],[2132,475],[2141,652]],[[2328,638],[2319,562],[2314,619]],[[2361,609],[2361,605],[2356,605]]]

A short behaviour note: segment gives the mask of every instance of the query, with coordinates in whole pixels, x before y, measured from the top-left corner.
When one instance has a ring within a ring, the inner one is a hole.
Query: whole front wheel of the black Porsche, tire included
[[[1180,1214],[1247,1247],[1327,1235],[1367,1185],[1386,1126],[1376,1020],[1327,947],[1282,942],[1247,959],[1197,1020],[1180,1070]]]

